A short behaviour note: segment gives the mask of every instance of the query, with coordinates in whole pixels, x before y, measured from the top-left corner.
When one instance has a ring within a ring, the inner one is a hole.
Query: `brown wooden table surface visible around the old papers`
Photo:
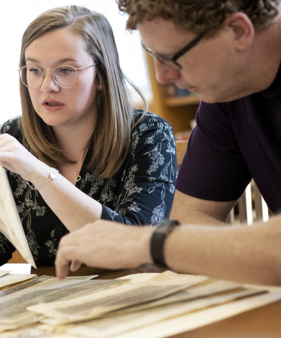
[[[135,269],[104,270],[82,266],[70,276],[98,274],[100,279],[112,279],[131,273],[162,272],[154,265],[143,265]],[[55,275],[53,266],[32,268],[31,273]],[[173,338],[280,338],[281,337],[281,300],[275,303],[250,310],[234,317],[215,322],[202,328],[181,333]]]

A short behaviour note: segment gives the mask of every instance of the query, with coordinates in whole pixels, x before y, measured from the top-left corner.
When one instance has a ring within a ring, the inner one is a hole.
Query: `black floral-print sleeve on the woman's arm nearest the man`
[[[103,205],[102,219],[127,225],[158,225],[169,217],[177,162],[173,129],[150,114],[133,131],[114,210]]]

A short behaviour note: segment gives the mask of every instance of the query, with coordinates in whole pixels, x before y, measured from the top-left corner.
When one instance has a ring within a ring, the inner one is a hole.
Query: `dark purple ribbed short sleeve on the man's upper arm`
[[[176,189],[201,199],[238,199],[251,179],[226,104],[200,103]]]

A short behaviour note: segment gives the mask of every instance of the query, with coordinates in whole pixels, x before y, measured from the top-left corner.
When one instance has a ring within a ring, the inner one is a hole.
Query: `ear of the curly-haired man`
[[[245,13],[231,14],[223,21],[223,25],[232,29],[237,50],[243,51],[252,44],[255,30],[251,20]]]

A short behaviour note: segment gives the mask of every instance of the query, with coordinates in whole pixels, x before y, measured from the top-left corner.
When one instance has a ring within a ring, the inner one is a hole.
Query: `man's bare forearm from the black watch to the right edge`
[[[276,217],[252,226],[178,226],[165,241],[166,263],[183,273],[281,284],[280,221]]]

